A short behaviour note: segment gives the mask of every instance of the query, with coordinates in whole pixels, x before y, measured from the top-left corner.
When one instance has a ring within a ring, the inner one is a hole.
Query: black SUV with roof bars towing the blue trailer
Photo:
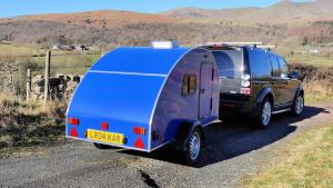
[[[299,73],[284,58],[255,46],[206,46],[215,57],[220,77],[220,111],[240,111],[269,126],[274,113],[304,109]]]

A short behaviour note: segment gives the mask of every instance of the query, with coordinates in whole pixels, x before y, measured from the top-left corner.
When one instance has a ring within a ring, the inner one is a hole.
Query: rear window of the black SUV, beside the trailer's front
[[[243,72],[243,50],[231,49],[213,51],[220,77],[241,78]]]

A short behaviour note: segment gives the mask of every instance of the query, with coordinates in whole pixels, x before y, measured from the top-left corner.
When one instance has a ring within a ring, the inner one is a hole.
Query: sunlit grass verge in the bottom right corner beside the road
[[[302,132],[280,148],[276,162],[243,179],[243,187],[333,187],[333,123]]]

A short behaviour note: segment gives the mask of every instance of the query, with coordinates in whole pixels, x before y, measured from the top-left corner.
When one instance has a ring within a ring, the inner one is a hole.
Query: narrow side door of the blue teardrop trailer
[[[199,90],[199,118],[208,118],[212,110],[213,65],[201,63]]]

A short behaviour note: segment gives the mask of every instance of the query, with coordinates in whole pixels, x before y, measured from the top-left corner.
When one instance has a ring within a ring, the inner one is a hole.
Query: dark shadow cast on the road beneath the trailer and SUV
[[[253,121],[243,117],[233,117],[228,121],[208,126],[204,128],[204,149],[199,167],[238,157],[281,140],[296,130],[293,123],[321,112],[329,111],[323,108],[306,107],[301,117],[293,117],[289,113],[276,115],[273,116],[272,123],[266,129],[256,128]],[[172,145],[152,154],[132,150],[121,152],[183,165],[180,154],[174,151]]]

